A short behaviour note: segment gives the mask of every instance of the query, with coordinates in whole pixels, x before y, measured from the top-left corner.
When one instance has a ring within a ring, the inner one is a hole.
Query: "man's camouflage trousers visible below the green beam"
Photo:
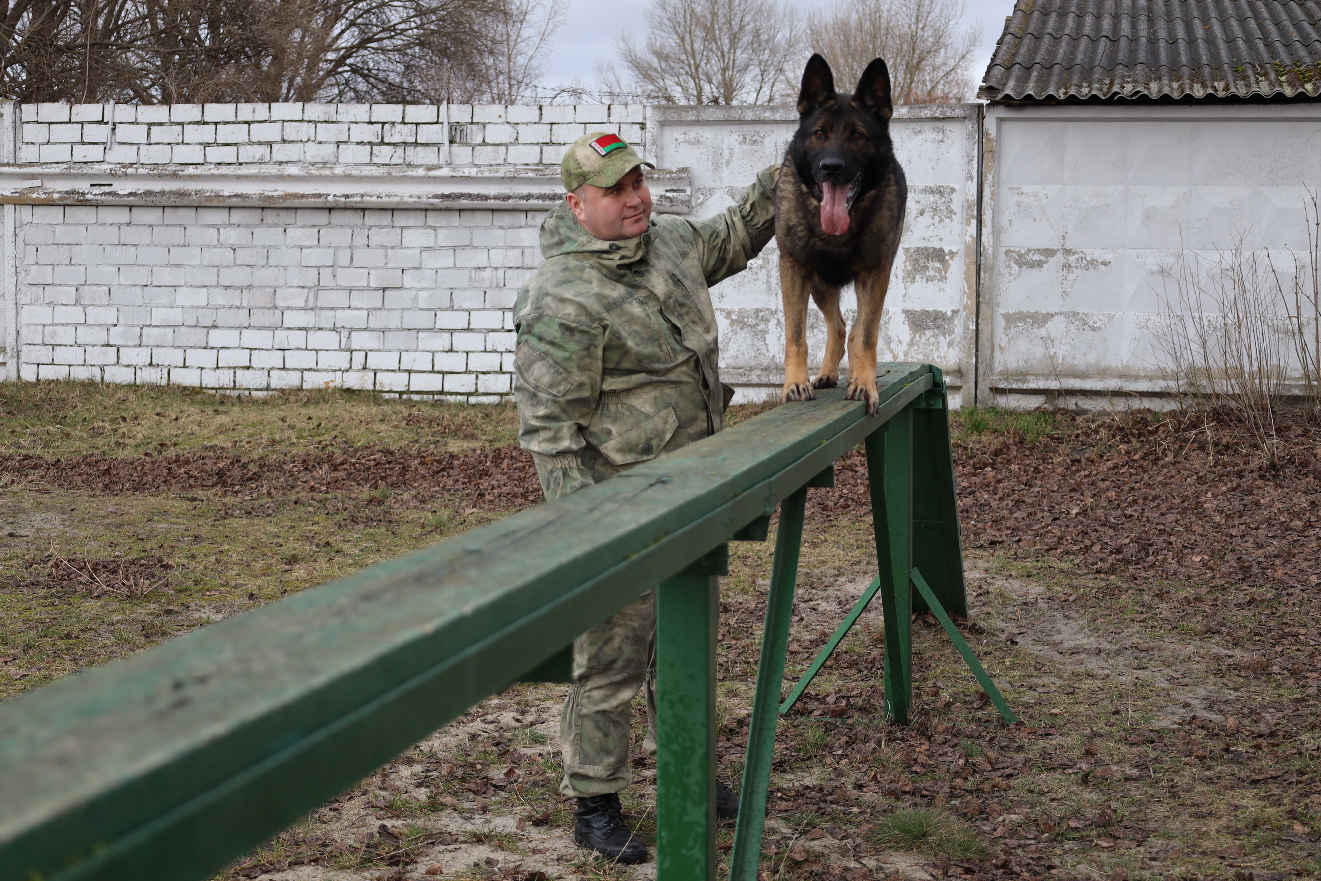
[[[651,592],[573,642],[573,682],[560,712],[564,753],[560,794],[605,795],[633,782],[629,704],[639,688],[647,701],[642,750],[655,757],[655,626],[657,601]]]

